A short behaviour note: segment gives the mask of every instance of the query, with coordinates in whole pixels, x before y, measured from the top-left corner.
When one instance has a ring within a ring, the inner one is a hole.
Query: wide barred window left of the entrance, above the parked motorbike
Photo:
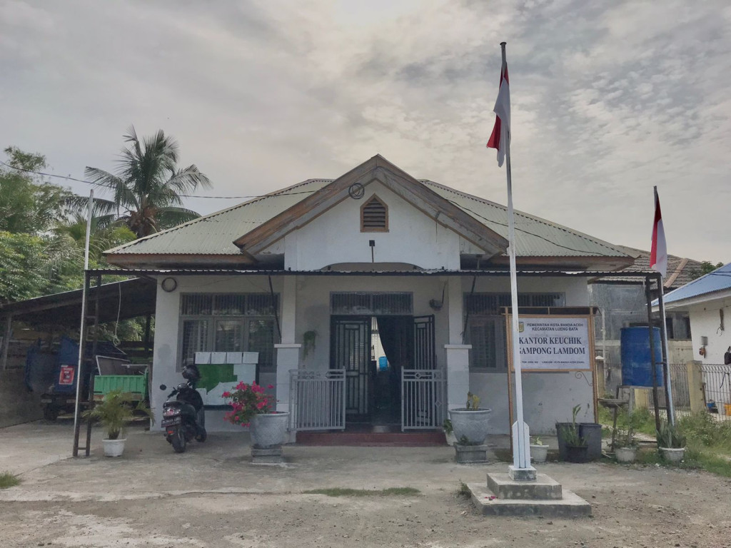
[[[259,371],[273,371],[279,295],[268,293],[181,295],[181,359],[195,353],[259,352]]]

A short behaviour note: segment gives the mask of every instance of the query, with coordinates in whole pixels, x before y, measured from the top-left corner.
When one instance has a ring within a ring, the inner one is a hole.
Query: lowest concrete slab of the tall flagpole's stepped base
[[[575,492],[564,490],[560,501],[535,501],[496,498],[493,492],[482,484],[467,484],[472,493],[472,503],[483,516],[542,516],[542,517],[588,517],[591,504]]]

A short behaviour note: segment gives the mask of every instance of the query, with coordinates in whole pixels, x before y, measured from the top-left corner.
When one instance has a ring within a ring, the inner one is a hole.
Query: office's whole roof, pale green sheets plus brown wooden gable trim
[[[252,264],[256,261],[251,255],[257,250],[344,199],[350,186],[347,183],[369,182],[372,179],[368,178],[374,175],[378,175],[378,180],[386,180],[404,199],[418,202],[421,210],[439,218],[442,224],[471,241],[480,240],[481,243],[474,242],[478,247],[497,253],[495,262],[507,261],[503,253],[507,244],[507,208],[430,180],[415,180],[381,156],[374,156],[336,180],[305,180],[126,243],[106,254],[110,263],[124,266]],[[602,270],[613,270],[632,261],[621,248],[603,240],[520,211],[515,211],[515,215],[519,260],[560,257],[585,267],[590,263],[592,268],[602,265]]]

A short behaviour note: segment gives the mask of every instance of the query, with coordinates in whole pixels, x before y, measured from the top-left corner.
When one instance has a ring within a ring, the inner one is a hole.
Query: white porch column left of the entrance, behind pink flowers
[[[284,276],[281,293],[281,343],[276,349],[276,410],[289,411],[289,371],[300,365],[301,344],[295,343],[295,319],[297,316],[297,278]]]

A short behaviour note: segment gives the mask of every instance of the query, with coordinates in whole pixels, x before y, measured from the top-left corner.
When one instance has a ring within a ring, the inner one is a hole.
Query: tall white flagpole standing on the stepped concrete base
[[[502,50],[502,74],[505,73],[505,42],[500,42]],[[505,140],[505,161],[507,162],[507,232],[508,254],[510,256],[510,299],[512,309],[512,365],[515,369],[515,408],[516,420],[512,425],[512,468],[515,470],[534,470],[529,454],[529,430],[523,421],[523,378],[520,364],[520,320],[518,318],[518,270],[515,266],[515,214],[512,209],[512,180],[510,176],[510,125],[507,126]]]

